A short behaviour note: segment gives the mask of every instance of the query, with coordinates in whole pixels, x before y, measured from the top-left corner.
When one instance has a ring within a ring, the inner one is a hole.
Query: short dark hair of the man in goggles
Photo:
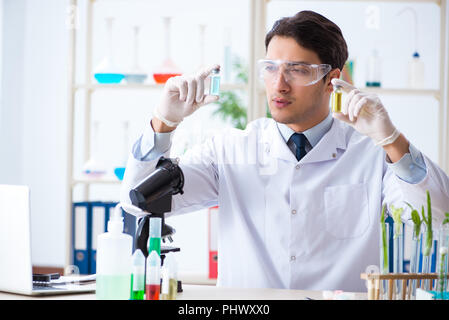
[[[265,37],[265,49],[274,36],[291,37],[314,51],[332,69],[343,70],[348,59],[348,47],[340,28],[326,17],[313,11],[300,11],[293,17],[277,20]]]

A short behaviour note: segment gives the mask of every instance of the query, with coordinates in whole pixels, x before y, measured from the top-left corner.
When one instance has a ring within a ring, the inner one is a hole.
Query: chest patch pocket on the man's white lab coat
[[[362,236],[370,224],[368,192],[363,183],[326,187],[326,231],[336,239]]]

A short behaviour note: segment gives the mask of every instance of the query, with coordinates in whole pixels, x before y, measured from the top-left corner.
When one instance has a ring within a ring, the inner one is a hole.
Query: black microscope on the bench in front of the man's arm
[[[135,249],[140,249],[148,257],[148,238],[150,230],[150,218],[158,217],[162,219],[161,238],[173,242],[172,236],[175,229],[165,224],[164,214],[171,211],[172,196],[183,194],[184,174],[178,166],[178,159],[160,157],[156,164],[156,170],[141,181],[129,192],[131,203],[140,208],[147,215],[138,220],[135,238]],[[168,252],[180,251],[179,248],[171,246],[161,246],[161,262],[163,264],[165,255]],[[146,265],[146,263],[145,263]],[[178,280],[178,292],[182,292],[181,281]]]

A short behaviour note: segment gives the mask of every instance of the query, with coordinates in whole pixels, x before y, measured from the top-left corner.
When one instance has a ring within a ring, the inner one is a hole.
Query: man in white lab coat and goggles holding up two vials
[[[394,127],[377,95],[338,79],[348,54],[333,22],[302,11],[278,20],[265,44],[258,66],[273,119],[187,151],[184,194],[170,214],[219,205],[220,286],[365,291],[360,274],[379,265],[382,205],[420,208],[429,190],[439,226],[449,178]],[[167,82],[133,147],[122,201],[169,156],[182,119],[218,100],[204,94],[213,68]],[[333,85],[348,93],[342,113],[329,110]]]

